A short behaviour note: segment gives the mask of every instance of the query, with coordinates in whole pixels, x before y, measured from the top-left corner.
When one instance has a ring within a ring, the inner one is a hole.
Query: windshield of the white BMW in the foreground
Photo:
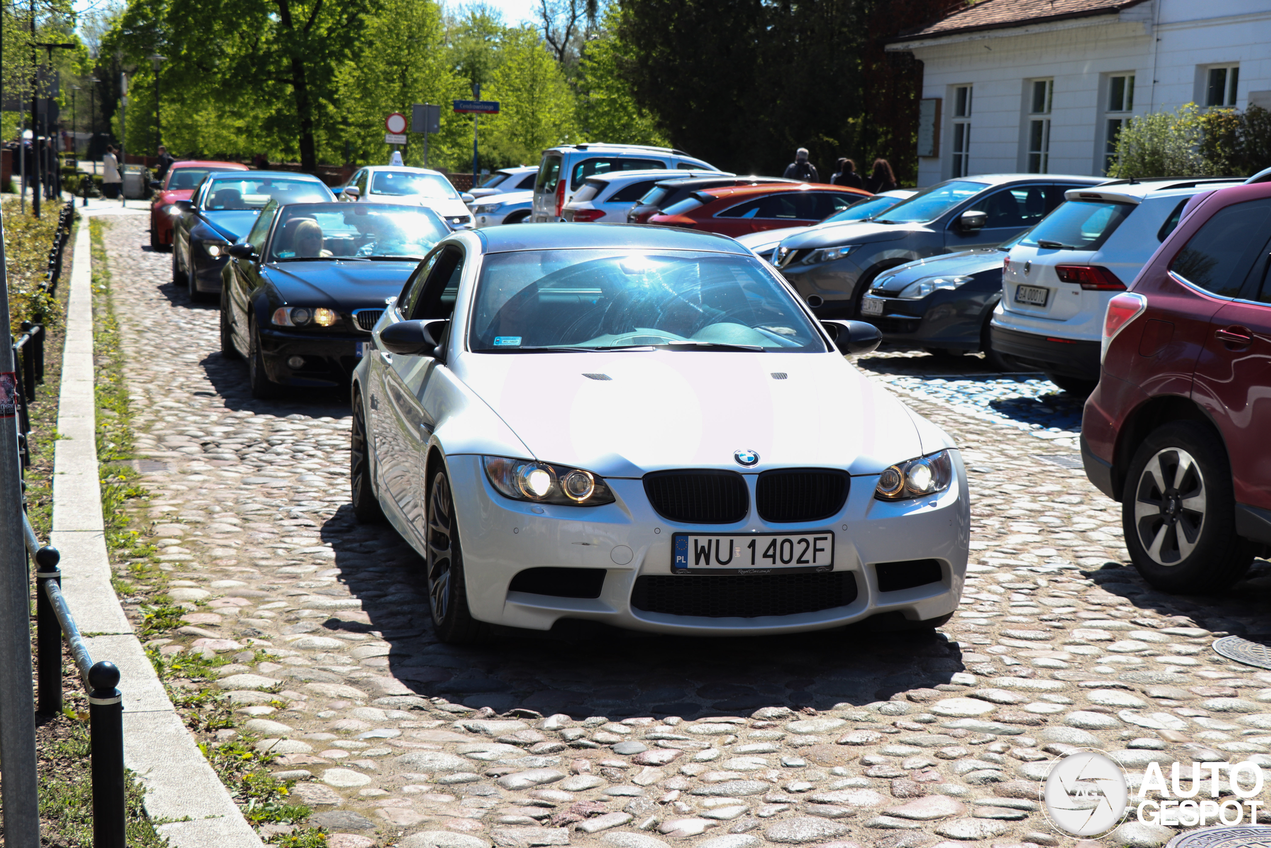
[[[826,350],[758,259],[688,250],[520,250],[487,256],[470,346],[483,352],[669,346]]]

